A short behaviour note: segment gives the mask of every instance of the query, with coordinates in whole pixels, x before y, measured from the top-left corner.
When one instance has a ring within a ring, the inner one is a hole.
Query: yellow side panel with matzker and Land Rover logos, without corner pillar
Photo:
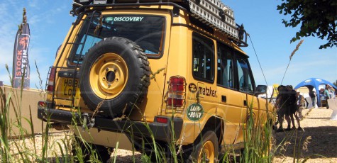
[[[184,142],[192,143],[201,134],[209,118],[216,116],[216,42],[198,30],[189,28],[189,50],[187,55],[187,106],[184,113]],[[193,91],[192,88],[196,87]],[[193,111],[199,103],[202,112]],[[198,116],[199,113],[199,116]],[[195,114],[195,115],[193,115]]]

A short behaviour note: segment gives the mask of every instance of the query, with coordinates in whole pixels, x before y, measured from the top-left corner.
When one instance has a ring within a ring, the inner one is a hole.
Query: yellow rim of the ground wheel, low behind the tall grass
[[[198,159],[198,163],[201,162],[214,162],[214,144],[213,142],[211,142],[211,140],[208,140],[204,143],[204,145],[202,146],[201,152],[199,153],[199,159]]]

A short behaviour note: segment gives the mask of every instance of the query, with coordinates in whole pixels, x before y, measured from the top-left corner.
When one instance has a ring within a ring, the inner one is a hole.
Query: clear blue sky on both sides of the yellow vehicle
[[[299,41],[296,43],[289,41],[298,28],[284,27],[282,18],[289,19],[289,17],[280,15],[276,10],[277,4],[281,3],[280,0],[224,1],[224,4],[233,9],[236,23],[243,23],[255,46],[258,59],[250,40],[248,40],[249,46],[243,47],[243,50],[250,56],[250,66],[253,69],[256,84],[265,84],[258,60],[267,84],[280,84],[289,62],[289,55],[299,43]],[[57,47],[65,39],[74,21],[74,17],[69,14],[72,1],[0,1],[0,81],[4,81],[4,84],[10,84],[5,64],[9,65],[11,72],[14,39],[18,24],[22,20],[23,7],[27,10],[31,28],[31,44],[28,52],[31,64],[31,87],[35,88],[35,84],[38,85],[39,82],[35,61],[44,87],[48,67],[55,60]],[[326,43],[326,40],[314,37],[303,39],[304,43],[292,57],[282,84],[296,86],[311,77],[336,81],[337,47],[319,50],[319,45]]]

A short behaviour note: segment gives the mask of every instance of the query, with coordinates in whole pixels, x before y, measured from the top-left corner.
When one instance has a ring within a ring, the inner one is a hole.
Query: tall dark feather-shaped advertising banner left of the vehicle
[[[26,19],[26,16],[24,16]],[[26,20],[25,20],[26,21]],[[31,37],[29,25],[23,21],[16,33],[13,52],[13,87],[29,89],[30,67],[28,62],[28,45]]]

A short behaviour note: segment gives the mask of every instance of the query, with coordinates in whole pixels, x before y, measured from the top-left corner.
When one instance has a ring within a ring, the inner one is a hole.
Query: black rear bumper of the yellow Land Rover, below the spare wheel
[[[164,142],[170,142],[171,140],[177,140],[182,131],[182,118],[171,118],[166,116],[160,116],[162,118],[167,118],[167,123],[158,123],[155,121],[153,123],[144,123],[142,121],[135,120],[111,120],[102,116],[95,116],[94,119],[89,120],[92,115],[82,114],[65,111],[54,108],[43,108],[38,106],[38,118],[45,121],[50,121],[53,123],[62,123],[64,125],[84,125],[83,123],[87,121],[87,126],[91,128],[97,128],[99,130],[106,130],[116,133],[125,133],[126,135],[131,135],[133,137],[138,137],[139,140],[143,138],[150,139],[151,135],[155,137],[155,140],[161,140]],[[87,118],[87,120],[84,120]],[[90,121],[90,122],[89,122]],[[172,126],[172,125],[173,126]],[[173,133],[175,137],[173,137]]]

